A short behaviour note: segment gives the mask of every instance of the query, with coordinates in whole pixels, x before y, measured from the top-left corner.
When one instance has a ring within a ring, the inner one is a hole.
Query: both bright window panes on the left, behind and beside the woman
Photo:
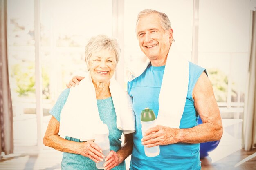
[[[112,0],[38,0],[40,9],[34,7],[34,0],[7,2],[14,146],[36,146],[65,83],[86,69],[86,42],[100,33],[112,36]],[[36,114],[35,14],[40,15],[42,124],[37,124]]]

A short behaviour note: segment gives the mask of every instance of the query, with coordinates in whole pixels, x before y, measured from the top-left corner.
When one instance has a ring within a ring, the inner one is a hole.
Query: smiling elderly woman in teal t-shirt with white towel
[[[62,170],[96,170],[95,163],[103,159],[105,170],[126,169],[124,160],[132,151],[135,119],[127,94],[112,78],[119,54],[116,39],[92,37],[85,47],[85,79],[76,88],[65,89],[50,110],[52,118],[43,142],[63,152]],[[94,143],[94,131],[101,121],[109,129],[108,155]],[[122,133],[123,146],[119,140]]]

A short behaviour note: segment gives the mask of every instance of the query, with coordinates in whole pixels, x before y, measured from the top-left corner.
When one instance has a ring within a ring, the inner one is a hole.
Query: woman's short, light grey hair
[[[85,61],[88,64],[89,58],[92,56],[92,53],[96,53],[101,50],[110,50],[114,51],[116,55],[117,62],[120,57],[120,46],[118,40],[115,38],[109,38],[107,35],[97,35],[96,37],[90,38],[87,45],[85,46]]]

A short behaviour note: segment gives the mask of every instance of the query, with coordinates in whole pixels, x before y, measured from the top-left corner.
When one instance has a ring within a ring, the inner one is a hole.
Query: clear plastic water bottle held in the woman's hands
[[[108,126],[106,124],[99,124],[96,132],[95,132],[95,143],[101,147],[103,155],[106,157],[110,152],[110,146],[109,146],[109,139],[108,139]],[[96,167],[98,169],[104,169],[104,163],[105,157],[103,158],[103,161],[99,161],[99,163],[96,163]]]

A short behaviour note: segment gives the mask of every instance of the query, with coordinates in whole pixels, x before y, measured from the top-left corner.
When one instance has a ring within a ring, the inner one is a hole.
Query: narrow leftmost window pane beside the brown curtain
[[[14,144],[36,146],[34,1],[9,0],[7,12]]]

